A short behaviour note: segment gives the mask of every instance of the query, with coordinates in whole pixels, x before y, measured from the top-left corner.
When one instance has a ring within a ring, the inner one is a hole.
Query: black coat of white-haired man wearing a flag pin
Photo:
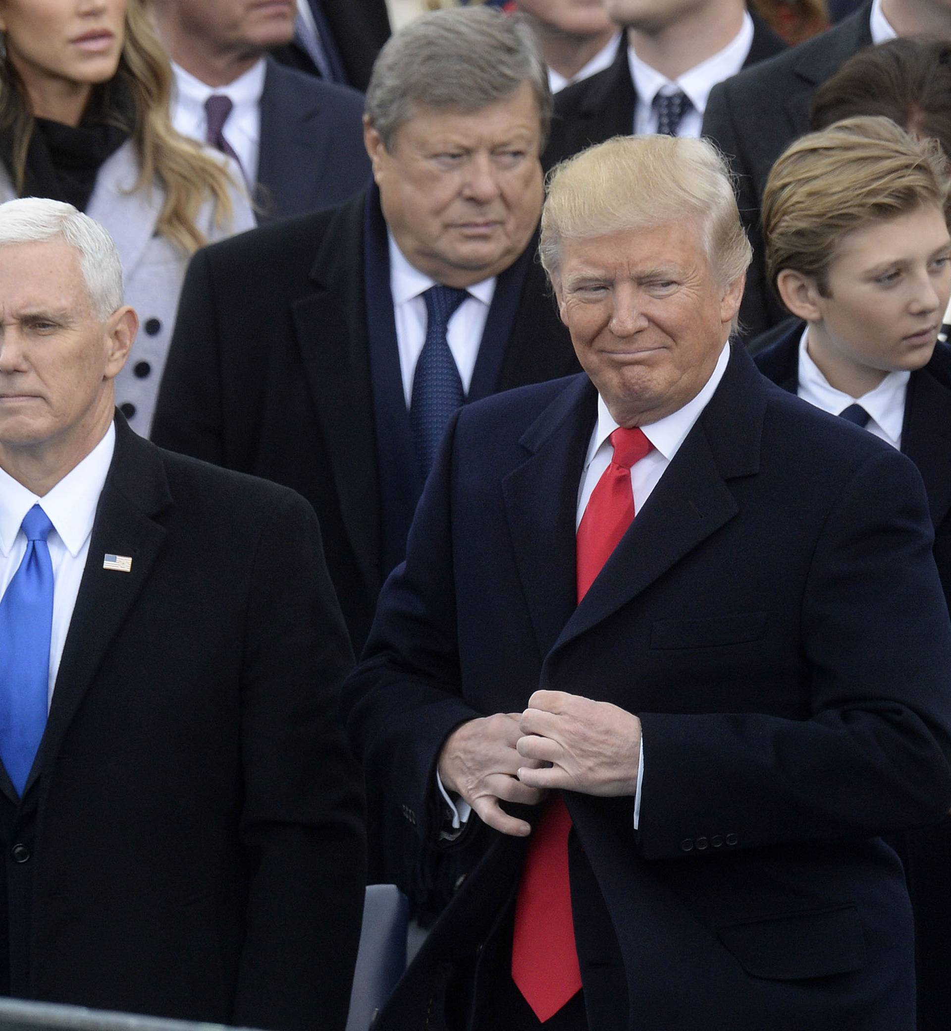
[[[342,1029],[365,847],[348,666],[309,506],[117,415],[21,804],[0,772],[0,991]]]

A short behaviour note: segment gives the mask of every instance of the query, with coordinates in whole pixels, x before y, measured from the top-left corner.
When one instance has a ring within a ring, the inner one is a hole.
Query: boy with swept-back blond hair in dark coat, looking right
[[[794,318],[771,331],[756,364],[914,461],[951,604],[951,347],[938,342],[951,298],[949,190],[938,144],[881,117],[793,143],[767,180],[762,219],[770,280]],[[943,1031],[951,1024],[951,822],[898,844],[915,910],[918,1028]]]

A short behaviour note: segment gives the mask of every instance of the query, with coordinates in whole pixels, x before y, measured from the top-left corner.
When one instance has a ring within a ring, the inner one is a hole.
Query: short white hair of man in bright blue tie
[[[79,253],[79,268],[96,318],[105,322],[123,304],[123,265],[112,237],[72,206],[41,197],[0,204],[0,246],[57,237]]]

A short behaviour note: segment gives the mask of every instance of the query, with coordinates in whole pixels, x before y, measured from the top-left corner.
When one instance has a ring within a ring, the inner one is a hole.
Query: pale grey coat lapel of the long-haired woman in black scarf
[[[165,203],[163,191],[135,190],[139,165],[131,140],[106,160],[96,176],[96,189],[86,213],[106,229],[123,263],[128,282],[156,233],[156,223]]]

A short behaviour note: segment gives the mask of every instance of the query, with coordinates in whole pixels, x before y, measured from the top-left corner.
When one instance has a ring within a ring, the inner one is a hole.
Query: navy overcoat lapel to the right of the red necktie
[[[637,597],[737,514],[727,480],[758,471],[765,409],[763,381],[745,351],[734,347],[715,394],[552,653]]]

